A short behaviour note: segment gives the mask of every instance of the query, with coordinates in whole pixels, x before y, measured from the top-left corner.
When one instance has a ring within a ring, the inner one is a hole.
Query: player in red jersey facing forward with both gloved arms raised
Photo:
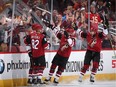
[[[92,62],[90,82],[94,82],[95,81],[94,77],[100,62],[100,51],[101,51],[102,40],[104,37],[107,36],[108,31],[107,29],[103,29],[102,32],[98,32],[97,27],[91,25],[90,32],[89,31],[83,32],[80,29],[78,29],[77,33],[82,38],[86,38],[87,40],[87,51],[84,58],[84,66],[81,69],[78,81],[82,82],[82,78],[85,75],[86,71],[88,70],[90,63]]]

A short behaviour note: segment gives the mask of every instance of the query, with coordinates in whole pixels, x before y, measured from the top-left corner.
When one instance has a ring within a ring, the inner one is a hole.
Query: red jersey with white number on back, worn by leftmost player
[[[44,34],[38,34],[36,32],[31,32],[29,35],[29,38],[26,38],[24,42],[26,44],[30,44],[32,56],[34,58],[45,55],[45,47],[48,46],[48,43],[46,41]]]

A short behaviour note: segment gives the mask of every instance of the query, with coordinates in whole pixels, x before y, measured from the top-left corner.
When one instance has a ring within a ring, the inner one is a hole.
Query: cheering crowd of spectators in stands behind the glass
[[[2,0],[1,0],[2,1]],[[8,1],[8,0],[6,0]],[[88,30],[88,20],[85,15],[88,13],[88,0],[53,0],[53,11],[51,11],[52,0],[22,0],[31,10],[23,10],[22,15],[14,16],[13,32],[12,28],[12,10],[0,13],[0,51],[8,52],[10,45],[10,36],[12,33],[12,46],[15,47],[17,52],[20,52],[24,46],[23,37],[27,34],[27,31],[31,30],[31,24],[34,23],[34,19],[31,16],[31,12],[37,14],[40,20],[47,26],[47,28],[73,28],[76,32],[77,29],[83,31]],[[91,0],[90,11],[95,11],[100,15],[103,28],[110,29],[109,21],[116,21],[115,18],[115,0]],[[7,4],[8,6],[8,4]],[[95,9],[92,9],[92,6]],[[114,7],[112,7],[114,6]],[[41,8],[41,9],[40,9]],[[45,10],[42,10],[45,9]],[[5,10],[5,9],[4,9]],[[52,12],[52,13],[51,13]],[[52,19],[51,20],[51,14]],[[112,15],[111,15],[112,14]],[[113,26],[116,29],[116,25]],[[52,31],[45,29],[48,38],[52,44],[52,50],[57,50],[59,46],[59,40]],[[114,30],[115,31],[115,30]],[[116,43],[116,33],[109,34],[103,41],[103,48],[112,48]],[[75,35],[76,44],[73,47],[74,50],[85,50],[87,43],[78,35]],[[19,46],[21,47],[19,49]],[[13,51],[13,50],[12,50]]]

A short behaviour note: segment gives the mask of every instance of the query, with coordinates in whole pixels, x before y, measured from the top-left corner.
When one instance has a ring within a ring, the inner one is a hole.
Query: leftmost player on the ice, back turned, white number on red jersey
[[[43,28],[39,24],[32,25],[33,31],[25,38],[24,42],[30,44],[32,69],[29,70],[28,83],[42,83],[43,71],[46,67],[45,48],[48,46],[46,36],[43,34]]]

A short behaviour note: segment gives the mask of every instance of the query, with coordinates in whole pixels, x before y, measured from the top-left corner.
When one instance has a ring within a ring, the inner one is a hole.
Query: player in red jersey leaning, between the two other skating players
[[[52,65],[49,70],[49,76],[44,80],[46,84],[51,81],[51,78],[55,72],[56,67],[58,67],[58,69],[56,71],[53,83],[55,84],[59,83],[59,78],[66,67],[67,61],[71,53],[71,49],[74,45],[74,39],[70,33],[73,34],[74,30],[66,29],[66,31],[64,31],[63,33],[57,31],[57,37],[60,39],[60,47],[52,60]]]

